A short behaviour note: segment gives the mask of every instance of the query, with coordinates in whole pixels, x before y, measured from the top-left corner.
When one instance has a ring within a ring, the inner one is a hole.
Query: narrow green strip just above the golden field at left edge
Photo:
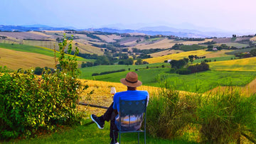
[[[18,45],[18,44],[9,44],[9,43],[0,43],[0,48],[6,48],[9,50],[16,50],[21,52],[32,52],[32,53],[38,53],[42,55],[48,55],[50,57],[54,57],[53,50],[50,50],[48,48],[42,48],[38,46],[32,46],[32,45]],[[56,52],[56,57],[58,57],[58,52]],[[78,61],[87,61],[90,62],[92,60],[87,60],[82,57],[78,57]]]

